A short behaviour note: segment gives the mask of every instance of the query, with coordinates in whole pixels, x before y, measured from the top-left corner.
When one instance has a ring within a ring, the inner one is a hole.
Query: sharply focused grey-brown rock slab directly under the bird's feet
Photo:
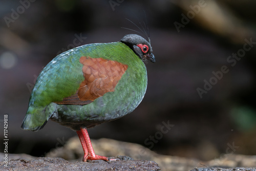
[[[89,162],[69,162],[62,158],[40,157],[33,160],[17,159],[8,164],[7,170],[159,170],[154,161],[133,160],[127,157],[117,157],[119,160],[106,162],[103,160]],[[124,158],[124,159],[123,159]],[[0,170],[6,169],[4,165]]]

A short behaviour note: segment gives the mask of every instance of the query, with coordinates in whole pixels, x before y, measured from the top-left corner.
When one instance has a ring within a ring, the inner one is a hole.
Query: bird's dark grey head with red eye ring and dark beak
[[[134,53],[141,58],[141,60],[150,60],[155,62],[156,60],[152,53],[150,39],[148,39],[148,41],[137,34],[127,34],[121,39],[121,42],[129,46]]]

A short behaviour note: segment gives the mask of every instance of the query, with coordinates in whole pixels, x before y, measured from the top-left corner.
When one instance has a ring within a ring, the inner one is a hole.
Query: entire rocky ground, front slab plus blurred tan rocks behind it
[[[256,156],[223,154],[218,159],[200,161],[159,155],[141,145],[112,139],[92,140],[92,144],[98,155],[122,156],[116,157],[118,160],[113,162],[82,162],[83,151],[79,139],[74,137],[63,147],[52,149],[46,157],[9,154],[11,161],[8,168],[5,167],[2,153],[0,170],[256,170]]]

